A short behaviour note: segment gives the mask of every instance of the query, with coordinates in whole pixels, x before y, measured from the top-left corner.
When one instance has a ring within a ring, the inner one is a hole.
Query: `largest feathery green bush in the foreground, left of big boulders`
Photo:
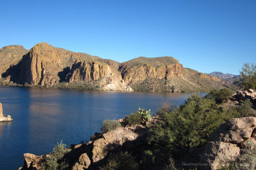
[[[166,162],[170,155],[187,152],[190,148],[204,144],[212,131],[223,122],[223,115],[213,99],[193,94],[181,104],[160,110],[161,118],[149,129],[148,142],[153,144],[156,158]]]

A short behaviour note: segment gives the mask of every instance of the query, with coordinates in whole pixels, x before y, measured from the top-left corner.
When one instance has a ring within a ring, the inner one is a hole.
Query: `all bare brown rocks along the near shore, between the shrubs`
[[[250,99],[255,102],[256,90],[249,89],[240,91],[233,95],[236,104],[240,104],[240,100]],[[229,101],[228,106],[234,103]],[[230,105],[230,107],[232,107]],[[255,115],[255,110],[254,110]],[[67,162],[67,169],[71,170],[96,170],[106,164],[109,155],[129,152],[136,160],[145,158],[145,151],[150,149],[147,141],[149,129],[154,127],[156,122],[161,121],[160,118],[153,117],[143,124],[128,125],[125,119],[118,120],[122,127],[118,127],[107,133],[95,133],[86,144],[71,144],[66,150],[67,153],[62,160]],[[233,118],[227,122],[220,124],[216,128],[207,142],[191,148],[184,155],[180,155],[180,159],[175,161],[176,166],[184,169],[193,169],[199,167],[202,170],[215,170],[228,161],[234,161],[247,146],[248,143],[256,144],[256,117],[239,117]],[[34,154],[24,154],[24,166],[19,170],[41,170],[44,169],[42,162],[51,154],[36,156]],[[225,161],[225,162],[224,162]],[[143,163],[142,163],[143,164]],[[144,165],[140,165],[143,166]],[[146,169],[162,169],[145,165]],[[145,168],[144,168],[145,169]]]

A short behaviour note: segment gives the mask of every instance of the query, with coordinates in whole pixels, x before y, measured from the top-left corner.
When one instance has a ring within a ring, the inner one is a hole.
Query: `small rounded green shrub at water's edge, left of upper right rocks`
[[[211,90],[211,92],[205,95],[206,98],[210,98],[216,101],[216,103],[222,103],[232,97],[234,92],[228,88],[223,88],[219,90]]]

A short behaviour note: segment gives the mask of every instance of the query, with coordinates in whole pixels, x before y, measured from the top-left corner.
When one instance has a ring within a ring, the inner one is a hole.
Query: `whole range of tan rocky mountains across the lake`
[[[208,92],[225,85],[218,78],[219,74],[215,73],[207,75],[183,68],[178,60],[168,56],[138,57],[118,63],[86,53],[55,48],[45,42],[36,44],[30,50],[20,45],[0,49],[0,85]]]

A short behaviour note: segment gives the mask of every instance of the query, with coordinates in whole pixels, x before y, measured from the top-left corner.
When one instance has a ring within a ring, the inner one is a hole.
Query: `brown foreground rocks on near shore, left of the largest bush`
[[[72,170],[99,169],[110,153],[130,151],[135,155],[142,155],[147,145],[147,132],[148,129],[144,126],[133,125],[119,127],[105,134],[95,133],[87,144],[70,145],[71,151],[64,159],[68,160],[69,169]],[[24,166],[19,169],[42,169],[40,162],[47,156],[25,153]]]

